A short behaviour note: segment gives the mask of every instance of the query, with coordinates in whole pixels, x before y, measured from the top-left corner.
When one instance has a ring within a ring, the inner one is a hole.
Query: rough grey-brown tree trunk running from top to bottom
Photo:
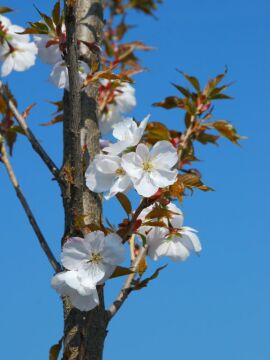
[[[102,0],[65,0],[67,29],[66,62],[69,69],[69,91],[64,94],[64,157],[61,176],[65,231],[82,236],[87,225],[99,225],[102,216],[101,198],[85,186],[84,173],[99,152],[100,131],[97,121],[97,84],[81,91],[78,60],[90,69],[98,64],[99,54],[83,42],[101,44],[103,32]],[[78,42],[79,40],[79,42]],[[94,47],[93,47],[94,49]],[[89,312],[64,304],[64,360],[101,360],[107,333],[108,316],[104,306],[103,286],[99,286],[100,305]]]

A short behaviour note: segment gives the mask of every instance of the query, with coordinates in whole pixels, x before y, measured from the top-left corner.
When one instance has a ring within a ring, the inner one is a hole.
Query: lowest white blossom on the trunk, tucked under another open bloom
[[[52,287],[61,295],[68,296],[74,307],[89,311],[99,304],[95,284],[83,286],[78,278],[78,271],[63,271],[52,278]]]

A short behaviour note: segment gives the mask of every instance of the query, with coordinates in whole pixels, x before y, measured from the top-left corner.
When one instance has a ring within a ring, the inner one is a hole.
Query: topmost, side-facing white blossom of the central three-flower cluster
[[[150,115],[146,116],[138,126],[131,118],[113,125],[113,136],[117,143],[105,147],[103,150],[112,155],[118,155],[128,147],[136,146],[140,142]]]

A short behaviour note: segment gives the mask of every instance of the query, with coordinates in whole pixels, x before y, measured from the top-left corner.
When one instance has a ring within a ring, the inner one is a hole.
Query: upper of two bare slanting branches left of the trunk
[[[40,158],[44,161],[44,163],[47,165],[50,172],[54,175],[54,177],[59,180],[59,170],[57,166],[54,164],[52,159],[49,157],[49,155],[46,153],[46,151],[43,149],[43,147],[40,145],[39,141],[35,137],[35,135],[32,133],[32,131],[28,128],[24,117],[19,113],[18,109],[14,105],[14,103],[9,99],[9,97],[6,94],[5,86],[3,85],[2,81],[0,81],[0,94],[3,96],[3,99],[5,100],[8,108],[16,118],[18,124],[21,126],[21,128],[24,130],[26,137],[30,141],[33,149],[35,152],[40,156]]]

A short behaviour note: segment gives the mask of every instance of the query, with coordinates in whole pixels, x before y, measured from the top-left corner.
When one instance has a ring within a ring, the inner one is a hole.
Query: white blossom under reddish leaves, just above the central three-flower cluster
[[[102,79],[101,86],[108,86],[109,80]],[[106,106],[99,118],[99,128],[102,135],[112,131],[112,126],[123,120],[123,113],[131,112],[136,106],[135,89],[128,83],[122,83],[114,90],[114,102]]]

